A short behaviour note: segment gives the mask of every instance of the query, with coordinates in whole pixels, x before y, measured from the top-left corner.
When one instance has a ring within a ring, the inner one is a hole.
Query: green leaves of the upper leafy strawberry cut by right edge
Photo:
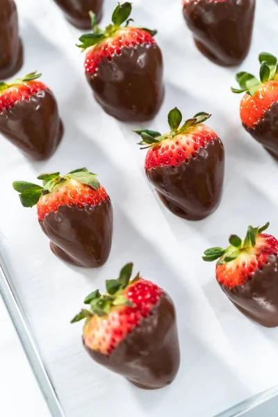
[[[246,92],[252,96],[264,83],[272,80],[277,81],[278,65],[276,56],[268,54],[268,52],[262,52],[259,55],[259,62],[261,64],[260,80],[256,79],[254,75],[249,74],[249,72],[238,72],[236,74],[236,81],[238,81],[240,88],[231,87],[232,92],[236,94]]]

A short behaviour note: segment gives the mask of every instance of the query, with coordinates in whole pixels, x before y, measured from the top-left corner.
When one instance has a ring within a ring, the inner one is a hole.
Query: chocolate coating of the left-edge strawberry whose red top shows
[[[0,113],[0,133],[35,161],[53,154],[63,136],[56,99],[42,90]]]

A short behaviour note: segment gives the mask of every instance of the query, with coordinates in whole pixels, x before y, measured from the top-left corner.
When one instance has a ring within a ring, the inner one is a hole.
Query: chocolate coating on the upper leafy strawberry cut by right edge
[[[250,128],[243,123],[244,128],[275,158],[278,158],[278,103],[265,111],[263,119]]]

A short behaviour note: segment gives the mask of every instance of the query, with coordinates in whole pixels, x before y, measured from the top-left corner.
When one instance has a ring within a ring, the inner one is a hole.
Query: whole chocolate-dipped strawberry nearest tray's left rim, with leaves
[[[97,268],[111,251],[113,209],[97,175],[87,168],[60,176],[41,174],[43,187],[15,181],[24,207],[37,204],[38,221],[52,252],[72,265]]]

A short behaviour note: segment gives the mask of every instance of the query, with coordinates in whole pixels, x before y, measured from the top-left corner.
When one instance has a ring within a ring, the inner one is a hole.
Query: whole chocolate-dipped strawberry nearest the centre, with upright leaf
[[[220,203],[224,179],[224,147],[217,134],[204,124],[210,117],[198,113],[180,127],[182,115],[168,114],[171,131],[161,135],[136,130],[149,148],[145,172],[162,202],[187,220],[202,220]],[[145,148],[142,148],[145,149]]]

